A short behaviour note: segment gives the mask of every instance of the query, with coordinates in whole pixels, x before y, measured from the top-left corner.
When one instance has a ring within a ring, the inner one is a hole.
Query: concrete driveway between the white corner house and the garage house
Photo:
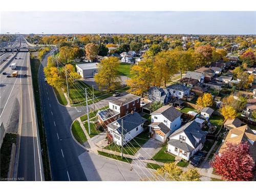
[[[152,159],[162,148],[163,143],[156,139],[149,139],[135,154],[139,159]],[[133,160],[132,164],[146,167],[145,162]]]

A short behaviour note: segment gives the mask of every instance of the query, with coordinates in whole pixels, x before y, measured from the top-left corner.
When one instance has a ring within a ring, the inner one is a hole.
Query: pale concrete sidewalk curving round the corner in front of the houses
[[[81,122],[80,118],[77,118],[84,134],[87,137],[87,142],[90,145],[90,150],[96,154],[98,154],[98,151],[100,152],[104,152],[104,153],[108,153],[108,154],[112,154],[112,155],[117,155],[117,156],[121,156],[120,152],[115,152],[115,151],[111,151],[111,150],[106,150],[105,148],[101,148],[95,145],[95,143],[93,142],[93,139],[90,138],[89,134],[86,131],[86,128],[83,126],[83,123]],[[216,144],[215,144],[216,145]],[[214,147],[215,145],[213,145],[212,147]],[[211,148],[212,151],[212,148]],[[142,165],[146,165],[146,163],[154,163],[154,164],[158,164],[160,166],[163,166],[164,163],[162,162],[158,162],[152,159],[146,159],[145,157],[139,157],[138,155],[129,155],[129,154],[123,154],[124,158],[129,158],[129,159],[133,159],[136,160],[138,163],[138,165],[140,166],[140,164]],[[140,162],[140,163],[139,163]],[[189,168],[188,167],[180,167],[183,171],[187,171]],[[194,167],[193,167],[194,168]],[[209,178],[215,178],[215,179],[221,179],[220,176],[212,174],[212,168],[196,168],[198,170],[198,173],[201,176],[205,176],[205,177],[209,177]]]

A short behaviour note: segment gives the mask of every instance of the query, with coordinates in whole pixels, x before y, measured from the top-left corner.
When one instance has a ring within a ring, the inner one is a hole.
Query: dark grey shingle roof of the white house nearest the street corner
[[[127,114],[116,121],[108,124],[107,126],[111,127],[112,129],[116,129],[116,131],[121,134],[122,133],[122,119],[123,119],[123,134],[129,133],[133,129],[135,129],[140,124],[144,123],[146,121],[145,118],[141,117],[140,114],[137,112],[133,112],[130,114]],[[120,125],[116,125],[116,122]]]

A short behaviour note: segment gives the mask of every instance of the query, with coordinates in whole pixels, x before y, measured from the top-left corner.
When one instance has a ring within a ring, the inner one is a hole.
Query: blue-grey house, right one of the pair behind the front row
[[[172,97],[176,97],[177,99],[182,99],[184,96],[188,96],[190,94],[190,87],[184,86],[181,83],[171,84],[166,87],[169,90]]]

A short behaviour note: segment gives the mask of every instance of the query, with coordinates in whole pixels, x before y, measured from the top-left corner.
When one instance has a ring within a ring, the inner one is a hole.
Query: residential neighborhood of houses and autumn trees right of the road
[[[45,61],[54,98],[78,113],[70,138],[80,147],[151,171],[193,170],[195,180],[256,179],[255,36],[25,38],[52,45],[31,60]]]

